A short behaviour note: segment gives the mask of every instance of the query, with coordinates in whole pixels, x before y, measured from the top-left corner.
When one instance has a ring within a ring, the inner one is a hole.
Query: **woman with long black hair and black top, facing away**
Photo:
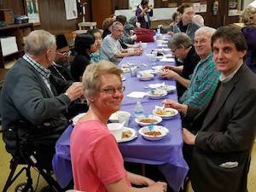
[[[90,33],[79,34],[74,49],[77,55],[71,64],[70,73],[75,81],[81,81],[85,68],[90,64],[90,54],[97,50],[94,36]]]

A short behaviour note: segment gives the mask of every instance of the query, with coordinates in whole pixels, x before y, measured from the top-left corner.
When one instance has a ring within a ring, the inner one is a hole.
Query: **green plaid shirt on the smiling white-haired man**
[[[220,76],[212,56],[208,55],[204,61],[199,61],[196,65],[189,88],[180,97],[179,102],[194,108],[203,108],[210,101]]]

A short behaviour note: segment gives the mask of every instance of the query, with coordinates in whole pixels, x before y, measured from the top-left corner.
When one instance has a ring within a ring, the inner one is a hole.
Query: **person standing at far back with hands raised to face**
[[[142,0],[141,4],[137,6],[136,16],[142,28],[150,28],[150,18],[153,16],[153,6],[148,5],[148,0]]]

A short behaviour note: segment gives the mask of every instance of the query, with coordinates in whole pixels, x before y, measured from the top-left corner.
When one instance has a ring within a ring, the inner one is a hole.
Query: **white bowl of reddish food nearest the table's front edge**
[[[145,134],[148,131],[149,131],[148,126],[143,126],[138,132],[147,140],[160,140],[160,139],[164,138],[169,133],[169,130],[166,127],[160,126],[160,125],[153,125],[153,130],[152,130],[152,131],[160,131],[160,133],[161,133],[160,135],[149,136],[149,135]]]

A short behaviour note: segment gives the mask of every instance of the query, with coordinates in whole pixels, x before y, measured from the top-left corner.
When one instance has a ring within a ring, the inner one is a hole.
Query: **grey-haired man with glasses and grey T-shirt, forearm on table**
[[[122,38],[123,32],[124,26],[119,21],[115,21],[112,25],[111,34],[102,41],[101,51],[103,60],[112,61],[118,65],[119,61],[125,56],[142,54],[142,49],[140,48],[128,52],[128,49],[121,47],[119,39]]]

